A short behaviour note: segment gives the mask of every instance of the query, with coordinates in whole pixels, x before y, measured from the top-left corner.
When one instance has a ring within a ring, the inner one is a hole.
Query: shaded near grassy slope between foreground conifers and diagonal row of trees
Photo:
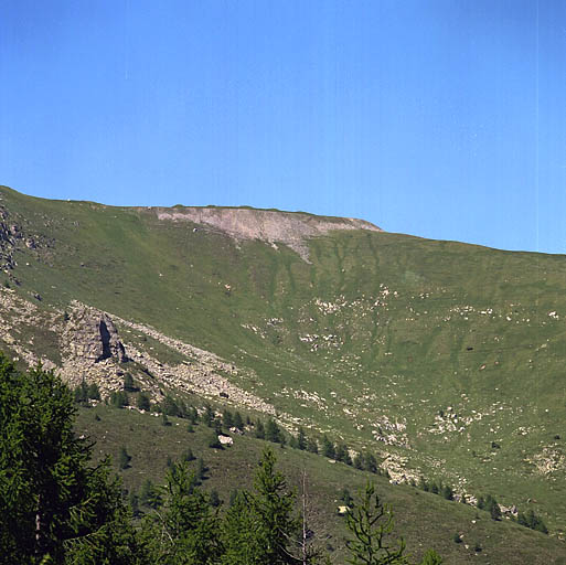
[[[95,419],[95,415],[100,419]],[[256,462],[268,444],[235,436],[234,446],[220,451],[207,447],[212,435],[210,428],[199,425],[190,434],[186,420],[170,420],[172,426],[164,427],[159,417],[99,405],[81,409],[76,428],[78,433],[84,431],[96,439],[97,457],[110,452],[117,460],[120,447],[127,448],[132,456],[131,467],[119,475],[128,489],[139,490],[147,478],[161,482],[167,472],[167,457],[179,458],[188,447],[210,468],[203,488],[216,489],[225,501],[229,499],[232,489],[252,488]],[[342,463],[330,463],[321,456],[277,446],[273,448],[291,488],[298,488],[300,475],[306,470],[311,527],[323,547],[329,543],[334,548],[334,563],[344,562],[346,535],[343,519],[335,514],[341,503],[338,498],[344,486],[355,493],[367,479],[376,483],[380,497],[392,503],[397,535],[403,534],[408,551],[415,557],[420,556],[425,548],[435,547],[446,563],[453,565],[566,563],[563,543],[509,521],[493,522],[487,512],[410,487],[392,486],[384,477],[356,471]],[[461,544],[453,542],[456,532],[462,535]],[[474,551],[476,544],[482,547],[481,552]]]

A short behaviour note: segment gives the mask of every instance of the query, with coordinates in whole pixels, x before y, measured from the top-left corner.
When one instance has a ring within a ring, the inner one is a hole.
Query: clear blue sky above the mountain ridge
[[[2,0],[0,183],[566,253],[566,2]]]

